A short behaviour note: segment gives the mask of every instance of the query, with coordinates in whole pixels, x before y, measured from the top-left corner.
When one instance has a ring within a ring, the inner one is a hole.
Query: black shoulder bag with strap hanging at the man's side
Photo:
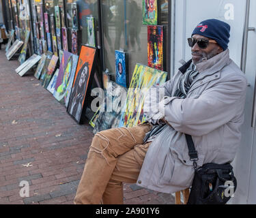
[[[233,167],[230,163],[205,163],[197,168],[198,156],[192,136],[185,136],[188,155],[195,168],[187,204],[226,204],[237,187]]]

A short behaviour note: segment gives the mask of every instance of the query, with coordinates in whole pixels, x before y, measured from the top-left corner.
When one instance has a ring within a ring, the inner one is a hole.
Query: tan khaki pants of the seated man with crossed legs
[[[74,204],[122,204],[123,182],[136,183],[150,142],[150,124],[100,131],[91,142]]]

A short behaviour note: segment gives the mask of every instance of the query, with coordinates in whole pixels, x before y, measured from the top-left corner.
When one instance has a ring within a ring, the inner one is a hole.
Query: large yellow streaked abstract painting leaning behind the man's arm
[[[134,127],[145,121],[143,114],[145,93],[154,84],[163,84],[166,79],[167,72],[139,63],[135,65],[119,127]]]

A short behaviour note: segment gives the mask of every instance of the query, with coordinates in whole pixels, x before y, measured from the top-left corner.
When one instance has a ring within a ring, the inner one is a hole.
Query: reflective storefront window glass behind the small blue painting
[[[165,26],[167,42],[168,1],[161,0],[158,10],[158,25]],[[129,83],[136,63],[147,65],[147,25],[142,24],[142,14],[141,0],[102,0],[104,64],[112,79],[115,78],[115,50],[128,52]]]

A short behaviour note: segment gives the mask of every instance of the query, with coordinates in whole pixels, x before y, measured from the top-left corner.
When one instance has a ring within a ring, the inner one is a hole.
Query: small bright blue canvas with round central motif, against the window
[[[115,50],[115,82],[122,87],[128,87],[128,54]]]

